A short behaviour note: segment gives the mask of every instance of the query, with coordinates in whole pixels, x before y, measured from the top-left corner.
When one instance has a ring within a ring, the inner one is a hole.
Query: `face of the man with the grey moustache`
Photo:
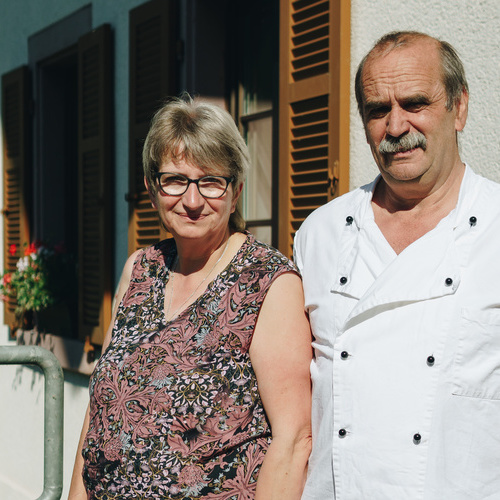
[[[467,95],[446,109],[437,44],[419,40],[372,54],[362,84],[366,137],[384,180],[441,185],[459,160],[456,131],[465,126]]]

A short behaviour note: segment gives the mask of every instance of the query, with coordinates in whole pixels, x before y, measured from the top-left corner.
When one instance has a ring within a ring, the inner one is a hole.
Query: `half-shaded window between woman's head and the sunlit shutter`
[[[251,157],[242,193],[243,217],[255,236],[278,243],[277,111],[278,111],[278,2],[258,0],[252,8],[238,3],[233,34],[236,51],[239,121]]]

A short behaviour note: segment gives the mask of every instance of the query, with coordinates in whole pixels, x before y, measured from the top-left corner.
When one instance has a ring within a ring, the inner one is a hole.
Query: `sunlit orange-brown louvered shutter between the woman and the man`
[[[350,0],[280,0],[280,250],[349,189]]]

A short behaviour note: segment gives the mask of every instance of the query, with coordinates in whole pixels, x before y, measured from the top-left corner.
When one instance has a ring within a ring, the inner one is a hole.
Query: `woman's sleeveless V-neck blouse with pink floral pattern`
[[[247,234],[231,263],[165,322],[173,240],[134,264],[90,381],[89,499],[250,500],[271,431],[248,350],[273,280],[293,264]]]

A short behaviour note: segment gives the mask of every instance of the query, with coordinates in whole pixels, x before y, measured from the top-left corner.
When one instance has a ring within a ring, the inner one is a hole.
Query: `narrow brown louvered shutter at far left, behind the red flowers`
[[[3,125],[3,262],[6,270],[14,271],[29,240],[27,202],[31,162],[31,123],[29,117],[30,84],[26,66],[2,76]],[[10,245],[16,245],[14,255]],[[4,322],[15,321],[15,301],[5,303]]]

